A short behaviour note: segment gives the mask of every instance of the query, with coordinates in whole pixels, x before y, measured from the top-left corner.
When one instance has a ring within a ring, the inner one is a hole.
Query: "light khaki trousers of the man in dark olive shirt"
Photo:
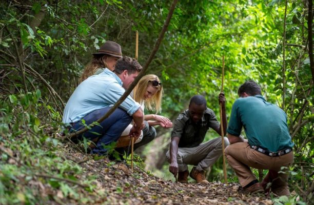
[[[229,140],[225,137],[225,147],[229,145]],[[178,161],[179,172],[188,170],[187,165],[197,166],[198,171],[205,171],[213,165],[222,155],[221,137],[209,140],[192,148],[179,148],[176,160]],[[167,160],[171,163],[170,152],[166,154]]]

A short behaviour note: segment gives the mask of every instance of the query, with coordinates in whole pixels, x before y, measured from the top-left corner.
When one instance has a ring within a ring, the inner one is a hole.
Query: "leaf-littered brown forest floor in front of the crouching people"
[[[92,182],[96,185],[94,204],[272,204],[264,195],[244,195],[238,183],[184,184],[158,178],[138,166],[131,171],[123,162],[86,159],[86,155],[75,150],[67,150],[65,155],[84,168],[81,177],[97,176]]]

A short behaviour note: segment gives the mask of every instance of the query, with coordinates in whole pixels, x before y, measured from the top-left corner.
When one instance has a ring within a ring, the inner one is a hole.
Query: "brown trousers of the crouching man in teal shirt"
[[[229,165],[237,174],[242,187],[255,180],[256,177],[250,170],[250,167],[256,169],[269,170],[267,180],[272,182],[271,188],[278,189],[280,192],[289,192],[288,189],[288,169],[282,170],[282,167],[288,168],[293,162],[293,152],[288,154],[271,157],[250,148],[247,142],[237,142],[229,145],[225,149],[225,155]],[[279,193],[280,194],[280,193]]]

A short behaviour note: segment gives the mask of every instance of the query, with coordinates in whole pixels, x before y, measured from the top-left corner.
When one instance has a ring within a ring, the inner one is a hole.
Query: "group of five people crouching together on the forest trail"
[[[69,98],[63,122],[69,132],[75,132],[104,116],[129,88],[142,70],[137,60],[122,56],[121,46],[107,41],[85,68],[81,83]],[[170,149],[166,158],[169,171],[178,175],[178,181],[188,182],[188,176],[198,183],[209,183],[205,171],[222,155],[222,138],[203,143],[209,128],[224,137],[225,154],[234,169],[245,193],[273,192],[289,195],[288,167],[293,161],[291,137],[286,113],[278,106],[268,103],[262,96],[260,86],[246,81],[238,90],[239,99],[232,106],[229,124],[225,112],[225,95],[219,94],[222,105],[222,124],[215,113],[207,108],[204,96],[195,95],[189,107],[174,120],[158,115],[161,111],[163,86],[158,76],[142,77],[131,94],[108,118],[77,136],[95,142],[91,153],[107,155],[108,145],[127,136],[134,137],[134,150],[148,144],[156,136],[154,126],[172,128]],[[156,114],[144,114],[144,108]],[[246,138],[241,136],[244,128]],[[121,144],[121,143],[120,143]],[[115,145],[115,144],[114,144]],[[126,144],[117,146],[121,154]],[[128,154],[128,153],[127,153]],[[192,165],[189,172],[188,165]],[[259,182],[251,168],[269,170]]]

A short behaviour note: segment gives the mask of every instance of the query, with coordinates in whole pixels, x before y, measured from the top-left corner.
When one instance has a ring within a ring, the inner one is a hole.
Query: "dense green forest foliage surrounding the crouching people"
[[[194,94],[205,95],[208,107],[219,118],[222,56],[227,113],[238,97],[238,87],[247,79],[258,81],[267,100],[288,115],[296,144],[289,184],[304,201],[310,201],[314,190],[314,110],[309,58],[313,31],[308,32],[308,22],[313,24],[313,20],[308,17],[309,1],[285,3],[179,2],[147,73],[162,79],[163,115],[171,119],[187,108]],[[31,188],[14,186],[22,174],[31,177],[51,172],[73,179],[72,172],[81,171],[70,162],[61,163],[63,159],[56,154],[62,142],[54,134],[60,131],[64,103],[77,86],[91,53],[106,40],[119,43],[124,55],[134,56],[138,30],[139,61],[144,65],[170,4],[153,0],[0,3],[0,203],[9,203],[15,194],[18,197],[12,203],[35,203],[36,193]],[[213,137],[218,135],[209,132],[207,138]],[[158,138],[151,144],[154,146],[140,153],[143,160],[147,159],[146,168],[171,177],[165,162],[169,132],[158,129]],[[13,159],[18,161],[10,161]],[[221,160],[208,177],[220,180],[222,176]],[[228,177],[234,180],[230,168]],[[54,186],[51,179],[48,182]],[[64,186],[68,185],[60,183],[54,188],[69,195],[72,189]],[[46,196],[41,197],[45,201]]]

